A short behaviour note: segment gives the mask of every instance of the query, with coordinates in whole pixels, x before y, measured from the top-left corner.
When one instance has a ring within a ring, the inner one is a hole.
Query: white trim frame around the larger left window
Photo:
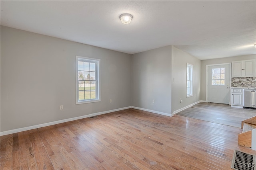
[[[96,99],[90,99],[90,100],[83,100],[78,101],[79,98],[79,89],[78,89],[78,60],[87,60],[87,61],[93,61],[96,62],[96,69],[97,69],[97,89],[96,89]],[[92,102],[100,102],[100,59],[94,59],[94,58],[88,58],[88,57],[81,57],[76,56],[76,104],[86,104],[86,103],[92,103]]]

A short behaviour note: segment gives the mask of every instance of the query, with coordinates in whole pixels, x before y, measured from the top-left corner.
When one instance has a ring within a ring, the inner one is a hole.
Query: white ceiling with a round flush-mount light
[[[256,54],[255,0],[0,3],[1,25],[128,54],[166,45],[201,60]]]

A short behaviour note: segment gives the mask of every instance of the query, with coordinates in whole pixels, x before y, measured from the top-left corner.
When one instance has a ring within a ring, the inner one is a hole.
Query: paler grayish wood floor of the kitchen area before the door
[[[241,127],[241,122],[255,116],[256,110],[234,108],[228,104],[201,102],[176,114],[222,125]]]

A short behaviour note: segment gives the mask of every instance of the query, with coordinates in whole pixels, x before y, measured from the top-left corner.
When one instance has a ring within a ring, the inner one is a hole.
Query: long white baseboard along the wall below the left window
[[[78,119],[84,119],[84,118],[87,118],[87,117],[92,117],[92,116],[97,116],[97,115],[103,115],[103,114],[106,114],[106,113],[111,113],[111,112],[114,112],[114,111],[120,111],[120,110],[130,109],[130,108],[132,108],[132,106],[129,106],[129,107],[122,107],[122,108],[119,108],[119,109],[113,109],[113,110],[108,110],[108,111],[102,111],[102,112],[98,112],[98,113],[92,113],[92,114],[89,114],[89,115],[83,115],[83,116],[78,116],[78,117],[72,117],[72,118],[69,118],[69,119],[63,119],[63,120],[58,120],[58,121],[52,121],[52,122],[43,123],[43,124],[40,124],[40,125],[33,125],[33,126],[22,127],[22,128],[18,128],[18,129],[12,129],[12,130],[9,130],[9,131],[2,131],[2,132],[0,133],[0,136],[9,135],[9,134],[12,134],[12,133],[18,133],[18,132],[22,132],[22,131],[28,131],[28,130],[31,130],[31,129],[37,129],[37,128],[40,128],[40,127],[46,127],[46,126],[50,126],[50,125],[56,125],[56,124],[64,123],[64,122],[68,122],[68,121],[73,121],[73,120],[78,120]]]

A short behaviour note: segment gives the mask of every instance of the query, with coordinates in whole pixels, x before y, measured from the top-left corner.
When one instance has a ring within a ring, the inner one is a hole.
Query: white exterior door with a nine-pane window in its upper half
[[[229,104],[229,66],[208,66],[208,102]]]

